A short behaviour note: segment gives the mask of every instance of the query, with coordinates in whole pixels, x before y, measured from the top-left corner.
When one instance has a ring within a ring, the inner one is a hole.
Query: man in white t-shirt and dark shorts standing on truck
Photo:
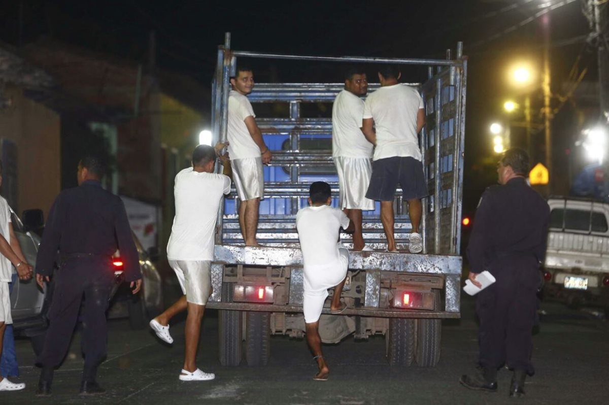
[[[397,252],[393,238],[393,199],[400,183],[412,224],[408,247],[410,253],[419,253],[423,250],[419,231],[423,213],[421,198],[428,195],[417,137],[425,125],[423,99],[417,90],[398,82],[401,73],[395,66],[382,65],[378,76],[381,88],[366,98],[362,123],[364,135],[376,146],[366,197],[381,201],[387,250]]]

